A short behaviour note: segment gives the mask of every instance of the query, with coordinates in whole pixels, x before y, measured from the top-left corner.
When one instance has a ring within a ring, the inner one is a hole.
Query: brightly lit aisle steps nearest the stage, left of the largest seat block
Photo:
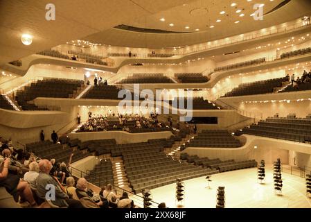
[[[116,187],[120,187],[122,189],[132,192],[132,188],[130,188],[130,182],[127,179],[127,174],[125,172],[122,157],[111,157],[110,160],[112,161],[112,173],[114,175],[114,185]]]

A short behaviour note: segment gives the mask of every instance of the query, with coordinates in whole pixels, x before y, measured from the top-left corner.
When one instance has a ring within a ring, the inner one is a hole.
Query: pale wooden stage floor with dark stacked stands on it
[[[184,181],[185,198],[175,201],[175,184],[151,190],[152,200],[164,202],[169,208],[215,208],[218,186],[225,187],[225,207],[229,208],[311,208],[311,198],[306,194],[305,178],[283,167],[283,189],[274,191],[272,165],[267,165],[264,184],[257,182],[257,168],[217,173],[211,176],[211,188],[206,177]],[[141,194],[139,194],[141,195]],[[182,206],[179,206],[182,205]]]

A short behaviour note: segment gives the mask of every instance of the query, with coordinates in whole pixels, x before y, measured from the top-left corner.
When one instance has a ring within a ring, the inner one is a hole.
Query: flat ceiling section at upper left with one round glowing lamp
[[[1,0],[0,65],[193,0]],[[55,5],[55,21],[45,19]],[[21,35],[33,35],[33,44]]]

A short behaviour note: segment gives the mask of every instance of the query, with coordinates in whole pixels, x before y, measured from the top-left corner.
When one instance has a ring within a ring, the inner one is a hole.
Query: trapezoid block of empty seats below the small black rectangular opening
[[[227,130],[202,130],[190,139],[186,147],[237,148],[242,146]]]

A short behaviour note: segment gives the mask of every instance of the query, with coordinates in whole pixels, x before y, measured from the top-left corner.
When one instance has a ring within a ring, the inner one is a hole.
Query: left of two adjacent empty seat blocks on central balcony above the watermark
[[[174,83],[163,74],[133,74],[118,83]]]

